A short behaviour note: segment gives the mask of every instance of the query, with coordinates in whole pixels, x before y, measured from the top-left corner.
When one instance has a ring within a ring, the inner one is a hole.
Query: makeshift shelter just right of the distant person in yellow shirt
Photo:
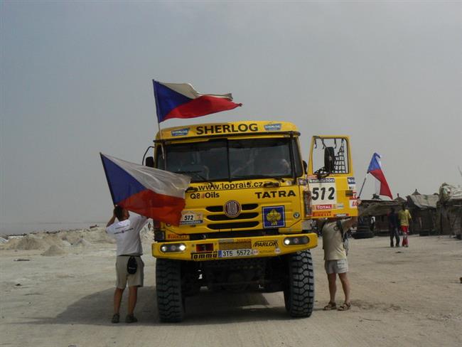
[[[439,200],[438,194],[424,195],[414,191],[407,196],[407,205],[412,215],[411,230],[419,235],[435,234],[438,215],[436,203]]]

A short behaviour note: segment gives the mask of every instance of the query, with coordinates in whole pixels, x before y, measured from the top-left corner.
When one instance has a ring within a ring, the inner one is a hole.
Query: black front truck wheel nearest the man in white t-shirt
[[[181,262],[156,260],[156,292],[159,319],[165,322],[183,321],[185,304],[181,292]]]

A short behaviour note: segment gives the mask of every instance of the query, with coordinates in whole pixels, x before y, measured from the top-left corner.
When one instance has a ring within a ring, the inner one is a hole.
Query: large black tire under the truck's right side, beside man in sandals
[[[314,274],[311,252],[288,255],[289,274],[284,290],[286,311],[292,317],[309,317],[314,304]]]

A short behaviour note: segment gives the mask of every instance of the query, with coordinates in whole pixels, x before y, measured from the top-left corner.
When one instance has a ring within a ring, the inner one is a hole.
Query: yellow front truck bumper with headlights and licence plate
[[[308,250],[318,245],[316,233],[234,237],[178,242],[154,242],[152,255],[172,260],[227,260],[236,258],[276,257]]]

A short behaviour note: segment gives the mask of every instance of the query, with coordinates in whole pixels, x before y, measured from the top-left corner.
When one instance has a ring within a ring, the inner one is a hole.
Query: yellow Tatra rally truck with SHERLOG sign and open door
[[[313,137],[308,164],[299,137],[294,124],[262,121],[157,134],[145,165],[191,178],[180,225],[154,223],[161,321],[182,321],[202,287],[281,291],[290,316],[311,316],[311,221],[358,210],[348,137]]]

